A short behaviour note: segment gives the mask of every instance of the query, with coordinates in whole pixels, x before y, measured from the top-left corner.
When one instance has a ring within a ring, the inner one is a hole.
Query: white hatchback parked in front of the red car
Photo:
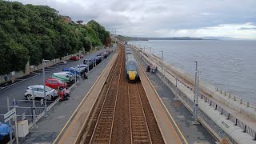
[[[34,98],[44,98],[43,90],[43,85],[28,86],[24,95],[27,100],[32,100],[34,91]],[[52,100],[56,97],[58,97],[58,91],[46,86],[46,100]]]

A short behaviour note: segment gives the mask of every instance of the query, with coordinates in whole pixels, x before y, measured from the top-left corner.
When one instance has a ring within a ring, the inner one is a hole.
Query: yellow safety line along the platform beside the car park
[[[110,62],[113,60],[113,57],[110,59]],[[108,62],[108,64],[106,65],[106,67],[109,66],[110,62]],[[102,74],[103,72],[106,70],[106,67],[104,70],[102,70]],[[94,88],[95,84],[98,82],[98,79],[102,76],[102,74],[100,74],[97,78],[97,80],[94,82],[94,85],[90,87],[90,90],[87,92],[86,96],[84,98],[82,98],[82,102],[80,102],[80,104],[78,105],[78,107],[74,110],[74,113],[71,115],[70,119],[66,122],[65,126],[62,128],[62,130],[59,132],[57,138],[55,138],[53,143],[56,143],[58,138],[61,136],[62,132],[66,129],[66,126],[70,123],[71,119],[74,117],[74,114],[78,112],[78,109],[80,108],[80,106],[82,105],[82,103],[84,102],[84,100],[87,98],[87,95],[90,94],[90,91]]]

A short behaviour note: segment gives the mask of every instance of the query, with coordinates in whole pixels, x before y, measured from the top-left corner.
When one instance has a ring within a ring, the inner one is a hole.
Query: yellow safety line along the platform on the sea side
[[[137,50],[136,50],[136,51],[137,51]],[[140,64],[140,62],[138,62],[138,63],[139,63],[139,66],[141,66],[141,68],[142,68],[142,65]],[[146,73],[145,73],[145,71],[144,71],[143,69],[142,69],[142,71],[143,71],[143,73],[146,75]],[[148,78],[147,75],[146,75],[146,78]],[[148,80],[149,80],[149,82],[150,82],[150,78],[148,78]],[[154,85],[152,84],[152,82],[150,82],[150,85],[151,85],[151,86],[153,87],[153,89],[154,89]],[[158,95],[157,90],[154,89],[154,92]],[[177,125],[176,122],[174,121],[174,118],[173,118],[173,117],[171,116],[171,114],[169,113],[169,110],[166,108],[166,105],[162,102],[162,99],[161,99],[161,97],[160,97],[159,95],[158,95],[158,98],[160,99],[160,101],[161,101],[161,103],[162,103],[162,106],[165,107],[167,114],[169,114],[171,120],[174,122],[174,125],[176,126],[176,128],[177,128],[177,130],[178,130],[178,133],[182,136],[182,139],[184,140],[184,142],[185,142],[186,144],[188,144],[188,142],[186,141],[185,136],[182,134],[182,131],[179,129],[178,125]]]

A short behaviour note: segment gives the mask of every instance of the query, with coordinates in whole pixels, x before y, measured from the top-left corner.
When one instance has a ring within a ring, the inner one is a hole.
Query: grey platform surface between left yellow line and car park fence
[[[69,120],[70,116],[74,113],[82,99],[86,96],[86,93],[90,90],[90,87],[94,85],[94,82],[98,76],[105,69],[108,62],[112,58],[110,55],[106,60],[101,62],[96,68],[90,70],[88,79],[82,79],[78,82],[74,88],[70,91],[70,98],[68,101],[58,102],[50,111],[46,118],[42,118],[38,123],[38,128],[30,129],[30,134],[26,138],[20,138],[20,143],[52,143],[58,136],[62,127]]]

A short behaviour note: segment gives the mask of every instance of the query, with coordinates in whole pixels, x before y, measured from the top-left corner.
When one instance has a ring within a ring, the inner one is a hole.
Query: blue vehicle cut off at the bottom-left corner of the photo
[[[10,140],[10,133],[12,133],[13,127],[0,122],[0,143],[6,143]]]

